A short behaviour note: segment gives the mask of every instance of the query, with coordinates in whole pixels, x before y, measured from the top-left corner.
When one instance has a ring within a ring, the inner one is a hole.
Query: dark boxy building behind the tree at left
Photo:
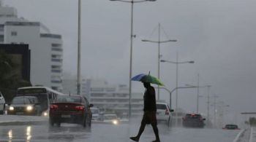
[[[18,76],[30,81],[30,50],[28,44],[0,44],[0,50],[3,50],[12,57],[15,63]]]

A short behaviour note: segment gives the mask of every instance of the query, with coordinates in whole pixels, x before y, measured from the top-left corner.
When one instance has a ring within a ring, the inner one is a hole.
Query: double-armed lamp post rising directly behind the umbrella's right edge
[[[151,41],[151,40],[148,40],[148,39],[142,39],[141,40],[142,42],[152,42],[152,43],[157,43],[158,44],[158,79],[160,79],[160,58],[161,58],[161,55],[160,55],[160,44],[163,44],[163,43],[167,43],[167,42],[177,42],[176,39],[169,39],[169,40],[165,40],[165,41],[161,41],[160,40],[160,23],[158,24],[158,41]],[[157,87],[157,98],[159,100],[159,85]]]

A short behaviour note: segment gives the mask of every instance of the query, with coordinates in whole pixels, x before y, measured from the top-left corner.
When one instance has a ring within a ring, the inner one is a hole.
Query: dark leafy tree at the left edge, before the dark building
[[[10,102],[18,87],[31,86],[29,81],[18,74],[17,65],[13,63],[11,55],[0,50],[0,91],[6,102]]]

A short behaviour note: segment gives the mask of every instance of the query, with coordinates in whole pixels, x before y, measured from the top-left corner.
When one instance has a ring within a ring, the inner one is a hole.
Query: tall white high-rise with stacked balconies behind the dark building
[[[61,35],[50,33],[42,23],[18,17],[14,7],[1,4],[0,44],[28,44],[31,50],[31,84],[62,91]]]

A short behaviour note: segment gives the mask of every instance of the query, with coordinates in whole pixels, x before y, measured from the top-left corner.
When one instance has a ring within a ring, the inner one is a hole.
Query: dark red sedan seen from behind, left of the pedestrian
[[[82,95],[59,95],[50,104],[49,122],[60,126],[62,122],[91,126],[92,104]]]

